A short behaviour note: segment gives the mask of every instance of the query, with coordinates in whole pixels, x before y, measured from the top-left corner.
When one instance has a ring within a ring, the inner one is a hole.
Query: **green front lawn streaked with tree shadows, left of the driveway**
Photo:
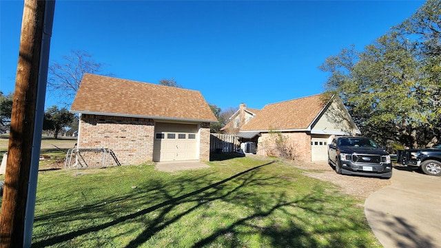
[[[381,247],[360,201],[278,161],[39,172],[32,247]]]

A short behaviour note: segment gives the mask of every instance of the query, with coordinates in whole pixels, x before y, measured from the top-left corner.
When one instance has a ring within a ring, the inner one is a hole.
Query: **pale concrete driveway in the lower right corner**
[[[441,247],[441,177],[396,166],[390,180],[365,201],[373,234],[385,248]]]

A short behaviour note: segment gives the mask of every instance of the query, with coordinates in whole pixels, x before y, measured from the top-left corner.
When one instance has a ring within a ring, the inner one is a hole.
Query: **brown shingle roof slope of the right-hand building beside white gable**
[[[240,131],[307,129],[327,101],[322,94],[265,105]]]

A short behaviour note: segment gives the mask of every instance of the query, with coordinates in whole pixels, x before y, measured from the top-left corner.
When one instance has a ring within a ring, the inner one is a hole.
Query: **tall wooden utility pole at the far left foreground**
[[[49,45],[48,41],[46,41],[47,45],[44,45],[43,37],[48,37],[48,30],[44,29],[48,23],[45,22],[49,22],[49,33],[52,32],[53,6],[53,1],[50,5],[46,1],[24,1],[19,63],[10,122],[8,160],[1,203],[0,247],[30,246],[30,244],[25,244],[23,240],[25,240],[25,222],[29,222],[26,218],[32,218],[31,223],[34,218],[33,207],[35,203],[31,203],[32,213],[27,213],[26,209],[30,204],[28,199],[35,198],[35,196],[29,196],[29,192],[34,193],[35,189],[32,187],[37,187],[37,174],[32,175],[30,172],[32,172],[32,154],[36,153],[35,148],[40,149],[39,145],[35,147],[39,142],[35,141],[35,134],[38,134],[38,131],[35,130],[38,129],[34,127],[36,123],[37,126],[41,125],[39,122],[42,121],[42,117],[39,116],[43,114],[39,110],[41,107],[37,107],[41,106],[41,103],[37,104],[37,99],[41,99],[41,94],[43,95],[44,107],[45,87],[39,86],[39,83],[44,83],[44,86],[46,83],[44,77],[47,78],[49,56],[46,50]],[[52,13],[45,11],[48,9]],[[49,18],[47,18],[48,15]],[[41,76],[42,74],[43,76]],[[41,82],[42,80],[44,82]],[[39,132],[39,140],[41,141],[41,130]],[[36,165],[38,172],[38,161]]]

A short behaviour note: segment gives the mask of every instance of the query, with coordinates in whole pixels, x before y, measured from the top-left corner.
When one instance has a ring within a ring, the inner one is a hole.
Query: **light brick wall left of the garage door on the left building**
[[[152,119],[81,115],[78,147],[112,149],[121,165],[152,161],[153,141]]]

